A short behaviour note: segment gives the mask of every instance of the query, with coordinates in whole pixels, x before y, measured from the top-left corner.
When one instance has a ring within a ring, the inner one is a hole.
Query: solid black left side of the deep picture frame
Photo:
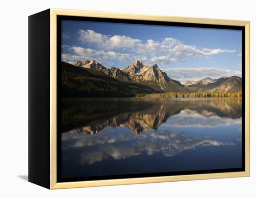
[[[50,9],[28,17],[28,181],[50,189]]]

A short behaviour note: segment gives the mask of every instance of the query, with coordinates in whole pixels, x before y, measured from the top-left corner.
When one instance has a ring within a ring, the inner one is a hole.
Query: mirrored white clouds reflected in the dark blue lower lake
[[[85,137],[74,132],[68,133],[62,140],[76,139],[69,148],[88,147],[89,152],[82,153],[81,163],[94,164],[104,159],[125,159],[128,157],[140,155],[146,152],[149,156],[155,153],[162,153],[166,157],[177,155],[186,149],[193,149],[196,146],[219,146],[234,145],[233,142],[219,142],[215,140],[189,137],[184,133],[171,133],[168,130],[147,131],[140,136],[134,136],[132,133],[121,133],[116,136],[114,132],[100,132],[97,136]],[[120,142],[126,142],[122,145]],[[104,145],[102,147],[97,145]],[[67,148],[67,147],[66,147]]]

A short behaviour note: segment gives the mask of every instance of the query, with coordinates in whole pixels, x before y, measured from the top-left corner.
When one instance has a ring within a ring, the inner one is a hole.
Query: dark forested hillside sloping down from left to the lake
[[[62,97],[134,97],[157,92],[149,86],[122,82],[101,71],[61,62]]]

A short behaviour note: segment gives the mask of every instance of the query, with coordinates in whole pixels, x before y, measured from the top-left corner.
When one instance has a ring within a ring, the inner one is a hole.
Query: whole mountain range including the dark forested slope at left
[[[242,78],[205,78],[180,83],[171,79],[157,64],[148,66],[140,60],[127,67],[101,65],[96,60],[62,62],[61,82],[64,97],[133,97],[137,94],[164,92],[242,92]]]

